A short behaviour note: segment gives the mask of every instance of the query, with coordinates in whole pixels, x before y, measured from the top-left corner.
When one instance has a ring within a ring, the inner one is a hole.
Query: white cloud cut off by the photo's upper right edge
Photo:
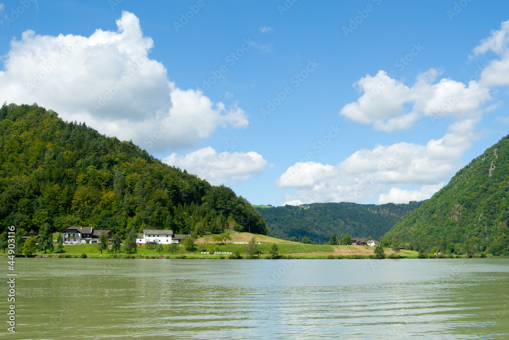
[[[482,40],[473,49],[474,55],[492,51],[499,56],[490,61],[480,75],[479,83],[485,86],[509,84],[509,20],[502,22],[500,29],[492,30],[491,36]]]

